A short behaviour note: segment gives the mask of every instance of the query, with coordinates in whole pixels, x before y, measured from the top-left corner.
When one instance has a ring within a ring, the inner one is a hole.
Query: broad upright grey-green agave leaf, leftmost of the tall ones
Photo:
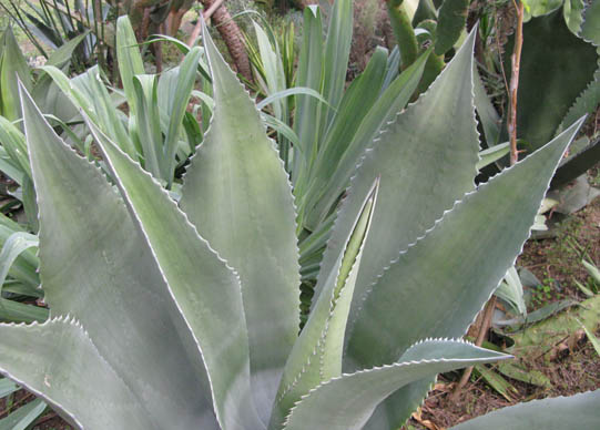
[[[122,199],[98,167],[54,134],[26,94],[22,105],[51,315],[71,315],[84,325],[160,428],[204,422],[215,429],[194,339]],[[94,211],[83,215],[89,207]]]

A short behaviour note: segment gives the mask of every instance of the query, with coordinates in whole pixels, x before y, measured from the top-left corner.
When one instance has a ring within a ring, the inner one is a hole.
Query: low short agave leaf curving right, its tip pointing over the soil
[[[461,340],[425,340],[416,344],[394,365],[343,375],[312,390],[292,410],[285,430],[358,430],[379,402],[407,383],[506,358],[510,356]]]

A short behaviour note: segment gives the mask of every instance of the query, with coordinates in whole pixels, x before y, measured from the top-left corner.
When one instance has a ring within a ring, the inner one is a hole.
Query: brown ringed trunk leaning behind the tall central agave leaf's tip
[[[209,10],[211,6],[217,0],[201,0],[204,4],[204,9]],[[246,52],[246,47],[244,45],[244,39],[240,28],[232,20],[232,17],[225,6],[221,6],[212,14],[211,19],[214,21],[214,24],[217,25],[218,33],[225,41],[227,50],[232,57],[232,60],[237,69],[237,72],[244,76],[247,81],[252,82],[252,72],[250,68],[248,54]]]

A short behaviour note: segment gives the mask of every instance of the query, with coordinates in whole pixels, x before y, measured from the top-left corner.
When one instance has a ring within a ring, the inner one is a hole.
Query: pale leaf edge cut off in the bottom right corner
[[[597,429],[600,390],[571,397],[532,400],[475,418],[451,430]]]

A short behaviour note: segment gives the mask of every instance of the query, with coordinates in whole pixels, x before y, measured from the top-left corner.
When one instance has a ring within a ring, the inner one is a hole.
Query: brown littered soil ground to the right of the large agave
[[[598,186],[600,167],[592,168],[589,178],[590,183]],[[584,286],[590,284],[590,276],[581,265],[583,257],[600,266],[600,198],[559,221],[556,237],[530,239],[526,244],[517,265],[531,270],[540,280],[540,285],[532,289],[535,308],[551,301],[571,299],[580,303],[587,298],[574,283],[578,280]],[[596,330],[596,336],[600,336],[600,329]],[[405,426],[405,430],[443,430],[521,401],[572,396],[600,388],[600,359],[582,330],[573,332],[568,342],[549,348],[549,355],[516,355],[516,361],[525,368],[543,373],[551,382],[548,387],[536,387],[505,376],[515,387],[515,391],[510,391],[507,399],[492,389],[481,376],[471,376],[457,400],[452,401],[450,397],[461,371],[441,375],[423,407]]]

